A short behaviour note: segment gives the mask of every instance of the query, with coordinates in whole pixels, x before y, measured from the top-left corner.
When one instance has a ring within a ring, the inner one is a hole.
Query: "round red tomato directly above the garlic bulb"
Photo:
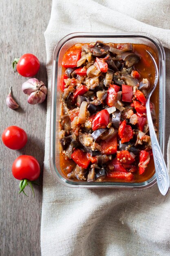
[[[21,76],[35,76],[40,69],[40,61],[31,53],[24,54],[20,57],[16,69]]]

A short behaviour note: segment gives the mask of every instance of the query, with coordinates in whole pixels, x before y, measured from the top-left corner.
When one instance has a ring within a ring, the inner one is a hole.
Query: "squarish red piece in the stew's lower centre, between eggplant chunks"
[[[101,152],[105,155],[115,154],[117,151],[117,137],[113,137],[108,142],[102,141],[100,142],[100,146],[102,148]]]

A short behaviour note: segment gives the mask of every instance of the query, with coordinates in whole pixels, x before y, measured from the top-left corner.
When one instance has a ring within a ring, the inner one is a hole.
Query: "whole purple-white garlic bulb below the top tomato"
[[[42,81],[31,78],[22,84],[22,91],[29,95],[27,102],[31,105],[42,103],[47,94],[47,88]]]

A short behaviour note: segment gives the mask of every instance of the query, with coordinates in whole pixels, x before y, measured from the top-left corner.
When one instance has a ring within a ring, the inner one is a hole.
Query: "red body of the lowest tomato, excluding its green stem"
[[[20,155],[13,162],[12,174],[17,180],[37,180],[40,176],[40,164],[31,155]]]

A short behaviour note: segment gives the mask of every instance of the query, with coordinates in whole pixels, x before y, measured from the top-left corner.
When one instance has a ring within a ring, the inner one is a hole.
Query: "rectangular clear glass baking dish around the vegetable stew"
[[[73,33],[68,34],[59,41],[53,53],[53,70],[52,70],[52,93],[51,93],[51,128],[50,128],[50,166],[54,177],[63,185],[73,188],[115,188],[115,189],[144,189],[152,186],[157,182],[156,174],[149,180],[139,183],[126,182],[82,182],[69,180],[62,173],[60,168],[60,151],[59,151],[59,110],[60,110],[60,79],[62,76],[62,58],[68,48],[76,43],[91,43],[97,40],[104,43],[138,43],[145,44],[155,51],[157,55],[157,65],[159,67],[159,143],[164,155],[165,143],[165,52],[161,43],[147,33]],[[155,92],[154,92],[155,93]]]

